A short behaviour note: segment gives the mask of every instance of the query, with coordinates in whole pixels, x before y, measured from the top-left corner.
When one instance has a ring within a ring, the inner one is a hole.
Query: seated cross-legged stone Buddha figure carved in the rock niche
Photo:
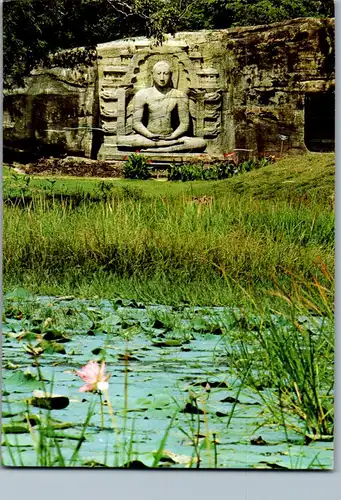
[[[204,139],[186,135],[190,126],[188,97],[172,87],[171,76],[167,62],[159,61],[154,65],[153,86],[139,90],[134,97],[132,126],[135,133],[119,135],[119,148],[149,153],[204,151]],[[174,113],[177,126],[173,130]]]

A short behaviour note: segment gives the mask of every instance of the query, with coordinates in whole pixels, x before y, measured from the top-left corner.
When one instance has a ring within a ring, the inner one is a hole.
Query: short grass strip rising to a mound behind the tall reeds
[[[140,189],[146,196],[214,195],[224,197],[227,194],[244,194],[261,199],[292,200],[295,197],[308,196],[329,199],[334,193],[335,155],[333,153],[310,153],[288,157],[276,164],[253,170],[224,181],[193,181],[190,183],[169,183],[157,181],[132,181],[126,179],[108,179],[102,184],[111,185],[116,190],[124,188]],[[13,173],[17,179],[13,178]],[[24,185],[26,176],[17,174],[9,166],[3,167],[5,180],[4,194],[7,189]],[[18,182],[19,179],[19,182]],[[83,177],[44,177],[30,178],[30,191],[48,194],[74,195],[78,193],[95,194],[100,191],[97,178]]]

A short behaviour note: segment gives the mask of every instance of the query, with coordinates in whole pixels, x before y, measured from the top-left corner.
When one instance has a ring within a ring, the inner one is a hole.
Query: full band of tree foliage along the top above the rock
[[[3,5],[4,84],[23,84],[38,65],[91,64],[98,43],[130,36],[257,25],[295,17],[333,17],[317,0],[15,0]],[[83,47],[52,58],[63,49]]]

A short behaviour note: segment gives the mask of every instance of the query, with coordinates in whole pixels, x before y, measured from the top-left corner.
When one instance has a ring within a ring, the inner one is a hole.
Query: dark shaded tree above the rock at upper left
[[[65,64],[89,62],[92,49],[117,38],[153,34],[162,0],[16,0],[3,4],[3,59],[5,86],[21,85],[23,78],[50,55],[65,54]],[[154,17],[153,17],[154,16]],[[153,24],[154,23],[154,24]],[[155,32],[160,31],[157,27]],[[77,54],[77,57],[75,57]],[[59,58],[61,62],[61,58]]]

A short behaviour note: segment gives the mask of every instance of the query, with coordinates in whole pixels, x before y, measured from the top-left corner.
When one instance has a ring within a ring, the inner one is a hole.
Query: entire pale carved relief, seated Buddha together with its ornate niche
[[[220,75],[214,68],[203,68],[205,59],[198,46],[176,40],[156,49],[147,40],[136,40],[102,54],[103,157],[137,149],[204,152],[219,136]]]

